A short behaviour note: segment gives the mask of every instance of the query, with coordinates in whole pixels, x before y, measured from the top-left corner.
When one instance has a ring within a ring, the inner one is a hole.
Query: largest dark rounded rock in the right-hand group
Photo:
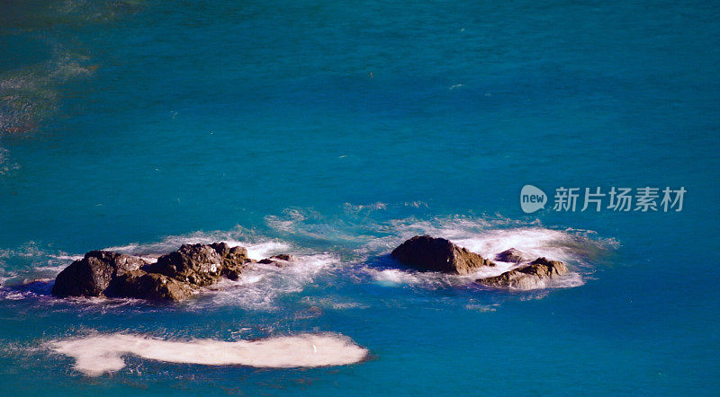
[[[418,235],[402,243],[390,256],[420,271],[469,274],[482,266],[495,266],[490,260],[458,247],[444,238]]]

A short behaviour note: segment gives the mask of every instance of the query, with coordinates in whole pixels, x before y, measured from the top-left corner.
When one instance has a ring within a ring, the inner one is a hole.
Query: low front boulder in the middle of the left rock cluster
[[[113,278],[106,296],[133,297],[153,301],[180,301],[193,295],[193,288],[175,278],[133,270]]]

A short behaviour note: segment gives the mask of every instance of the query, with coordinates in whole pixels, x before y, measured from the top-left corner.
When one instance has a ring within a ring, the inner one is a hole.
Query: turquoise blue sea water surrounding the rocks
[[[0,2],[0,393],[720,393],[718,5]],[[526,215],[526,184],[688,192]],[[413,273],[384,255],[414,234],[572,275]],[[49,296],[85,251],[220,240],[300,263],[169,306]],[[370,357],[88,377],[48,348],[115,332]]]

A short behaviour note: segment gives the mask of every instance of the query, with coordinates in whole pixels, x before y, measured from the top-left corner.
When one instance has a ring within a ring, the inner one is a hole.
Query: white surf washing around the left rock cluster
[[[216,242],[245,247],[248,256],[255,260],[279,253],[291,253],[293,264],[281,269],[273,264],[257,263],[245,269],[243,277],[238,281],[222,278],[219,283],[203,288],[201,299],[186,303],[185,307],[191,310],[233,305],[247,310],[274,311],[279,307],[277,301],[283,296],[301,292],[317,278],[329,276],[341,263],[338,255],[332,252],[309,250],[293,243],[246,234],[240,229],[172,235],[156,243],[130,243],[103,249],[136,255],[154,262],[161,254],[175,251],[183,244]],[[83,254],[52,251],[36,243],[28,243],[14,250],[0,250],[0,299],[49,296],[49,282],[73,260],[82,258]],[[107,308],[138,304],[141,301],[80,297],[58,302]]]

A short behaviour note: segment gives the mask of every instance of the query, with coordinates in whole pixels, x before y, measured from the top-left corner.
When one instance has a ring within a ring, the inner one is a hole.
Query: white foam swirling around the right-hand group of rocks
[[[529,260],[546,257],[561,260],[570,266],[571,272],[560,278],[540,279],[529,289],[554,287],[578,287],[592,271],[591,261],[599,252],[612,248],[617,242],[599,239],[590,231],[555,230],[540,225],[517,225],[513,221],[470,219],[464,217],[438,218],[430,221],[412,219],[392,221],[395,234],[373,239],[358,249],[365,255],[391,251],[402,241],[417,234],[444,237],[453,243],[477,252],[484,258],[495,261],[496,266],[485,267],[465,276],[448,276],[438,273],[423,273],[414,270],[376,269],[366,266],[365,272],[382,285],[410,284],[422,287],[459,286],[472,284],[477,278],[498,276],[511,269],[524,266]],[[500,226],[500,227],[499,227]],[[515,248],[527,255],[521,264],[494,260],[501,251]]]

